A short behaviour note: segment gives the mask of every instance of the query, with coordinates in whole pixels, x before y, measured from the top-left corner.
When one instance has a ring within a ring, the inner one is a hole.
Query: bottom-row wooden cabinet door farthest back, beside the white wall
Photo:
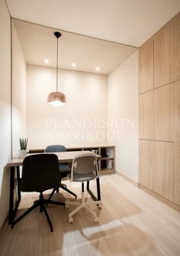
[[[153,140],[139,140],[140,184],[153,190]]]

